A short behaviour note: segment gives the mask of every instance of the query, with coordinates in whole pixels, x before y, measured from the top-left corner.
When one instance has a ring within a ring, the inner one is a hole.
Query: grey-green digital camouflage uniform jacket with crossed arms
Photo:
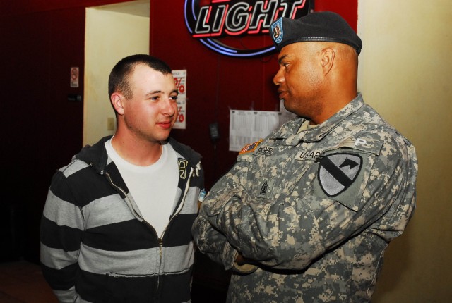
[[[360,94],[298,132],[303,122],[244,148],[194,223],[201,252],[234,268],[228,302],[370,302],[415,209],[415,148]]]

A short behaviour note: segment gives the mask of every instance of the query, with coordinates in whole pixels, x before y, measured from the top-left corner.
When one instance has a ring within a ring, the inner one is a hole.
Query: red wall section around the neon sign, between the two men
[[[185,1],[172,2],[172,6],[165,1],[150,2],[150,54],[163,58],[173,69],[187,70],[186,129],[173,130],[172,135],[203,155],[206,188],[210,188],[237,158],[237,152],[229,152],[230,109],[279,110],[273,85],[278,55],[231,58],[217,54],[189,35]],[[357,0],[316,0],[315,11],[336,11],[356,28]],[[263,46],[268,41],[262,38]],[[208,132],[213,122],[220,126],[216,149]]]

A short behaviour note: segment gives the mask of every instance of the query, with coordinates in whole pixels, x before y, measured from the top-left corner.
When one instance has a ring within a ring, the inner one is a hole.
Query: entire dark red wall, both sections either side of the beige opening
[[[85,7],[117,2],[121,0],[0,2],[0,223],[6,227],[1,225],[0,231],[8,228],[6,208],[15,206],[25,259],[39,258],[39,223],[50,178],[82,145],[83,103],[70,102],[67,95],[83,95]],[[272,84],[276,56],[216,54],[189,36],[184,0],[150,3],[150,53],[188,74],[187,127],[173,135],[203,155],[210,188],[237,156],[228,152],[230,109],[278,110]],[[356,27],[357,0],[316,0],[316,11],[324,10],[340,13]],[[81,68],[78,88],[69,87],[72,66]],[[216,149],[208,135],[208,124],[214,121],[221,135]],[[0,242],[0,247],[9,245]]]

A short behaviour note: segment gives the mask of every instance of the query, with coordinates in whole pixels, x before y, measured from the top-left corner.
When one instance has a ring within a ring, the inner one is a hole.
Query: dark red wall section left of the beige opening
[[[83,102],[67,97],[83,95],[85,4],[105,2],[0,2],[0,261],[22,247],[26,259],[39,258],[50,179],[82,147]],[[72,66],[81,69],[78,88],[69,85]]]

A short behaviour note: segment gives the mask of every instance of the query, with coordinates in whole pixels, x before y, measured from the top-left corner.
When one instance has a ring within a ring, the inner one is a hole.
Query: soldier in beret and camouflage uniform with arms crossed
[[[297,117],[249,144],[201,205],[227,302],[370,302],[415,209],[415,148],[357,92],[361,39],[336,13],[279,18],[273,81]]]

